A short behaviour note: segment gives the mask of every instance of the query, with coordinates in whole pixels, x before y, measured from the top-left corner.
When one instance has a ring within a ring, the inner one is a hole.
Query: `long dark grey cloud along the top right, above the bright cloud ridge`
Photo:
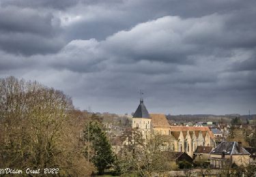
[[[82,1],[83,2],[83,1]],[[107,3],[106,3],[107,2]],[[211,14],[246,14],[253,11],[255,1],[87,1],[85,7],[74,7],[83,18],[68,27],[67,35],[73,39],[104,39],[121,30],[128,30],[138,23],[162,16],[198,18]],[[82,10],[81,10],[82,9]],[[248,10],[250,9],[250,10]],[[71,11],[72,12],[72,11]],[[239,16],[238,16],[239,17]],[[94,18],[93,20],[88,20]],[[249,19],[253,20],[253,16]],[[72,33],[72,31],[76,32]]]

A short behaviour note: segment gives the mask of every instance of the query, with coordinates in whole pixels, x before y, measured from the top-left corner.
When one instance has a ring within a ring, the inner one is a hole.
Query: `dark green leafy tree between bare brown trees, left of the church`
[[[104,174],[106,167],[112,165],[115,161],[115,155],[112,152],[109,140],[106,138],[106,133],[102,131],[98,121],[93,120],[87,124],[84,130],[84,138],[86,142],[89,142],[85,149],[85,157],[94,163],[98,169],[98,174]]]

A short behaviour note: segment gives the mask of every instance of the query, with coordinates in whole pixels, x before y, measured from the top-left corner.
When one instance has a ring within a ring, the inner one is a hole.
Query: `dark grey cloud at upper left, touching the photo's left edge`
[[[47,54],[60,50],[60,20],[52,12],[0,7],[0,49],[13,54]]]

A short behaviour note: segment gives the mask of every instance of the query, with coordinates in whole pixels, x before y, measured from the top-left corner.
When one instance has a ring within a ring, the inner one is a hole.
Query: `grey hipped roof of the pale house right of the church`
[[[210,154],[221,155],[223,152],[225,152],[225,155],[250,155],[244,148],[242,148],[241,153],[239,152],[238,142],[221,142]]]

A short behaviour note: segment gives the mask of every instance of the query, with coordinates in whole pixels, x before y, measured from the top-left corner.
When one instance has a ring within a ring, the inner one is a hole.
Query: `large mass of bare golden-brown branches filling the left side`
[[[55,167],[62,175],[91,173],[87,169],[93,166],[77,147],[70,97],[38,82],[8,77],[0,79],[0,99],[1,167]]]

